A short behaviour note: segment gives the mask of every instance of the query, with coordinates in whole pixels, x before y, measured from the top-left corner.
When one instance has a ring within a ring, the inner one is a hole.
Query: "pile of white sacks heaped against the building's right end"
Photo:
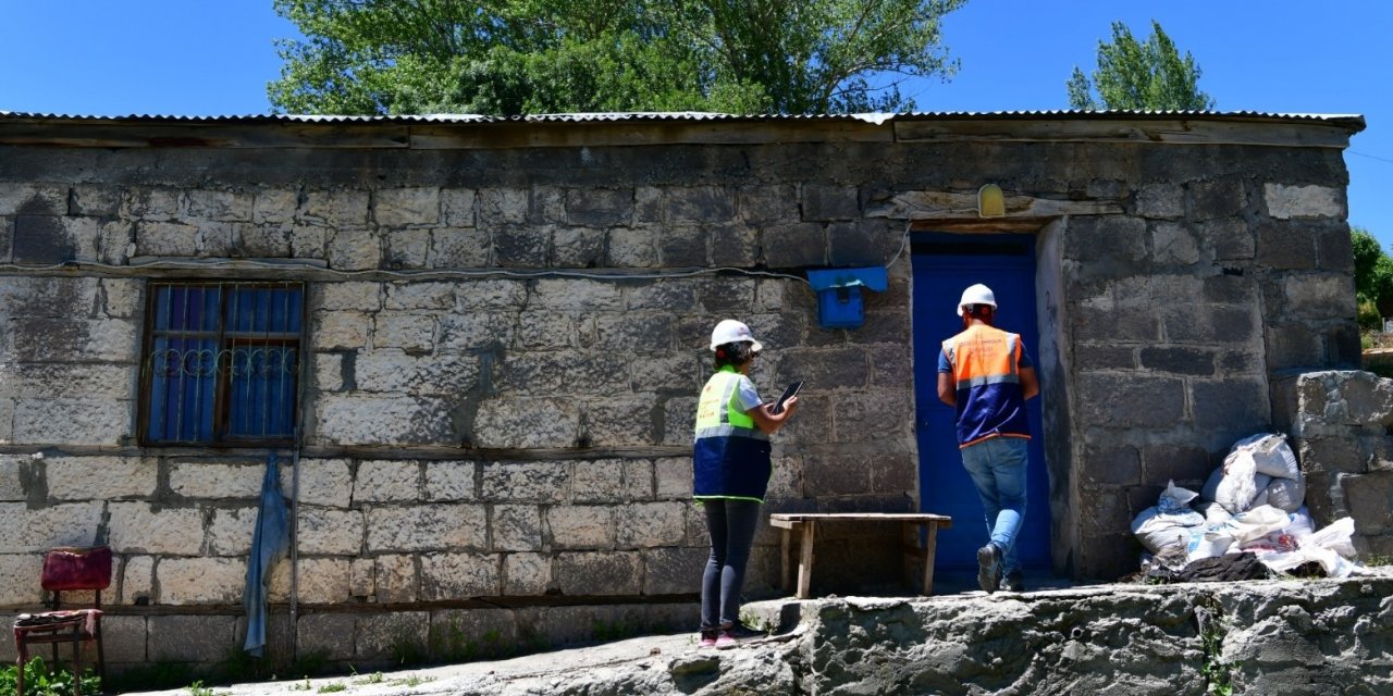
[[[1170,482],[1131,529],[1151,554],[1142,565],[1172,579],[1243,579],[1265,575],[1262,567],[1307,564],[1348,576],[1354,521],[1318,530],[1304,501],[1305,477],[1286,436],[1256,434],[1234,443],[1199,493]]]

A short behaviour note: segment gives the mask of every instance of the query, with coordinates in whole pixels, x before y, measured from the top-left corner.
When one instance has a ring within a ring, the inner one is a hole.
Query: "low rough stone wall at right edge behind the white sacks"
[[[1328,370],[1279,387],[1279,423],[1301,461],[1311,515],[1353,518],[1361,554],[1393,555],[1393,380]]]

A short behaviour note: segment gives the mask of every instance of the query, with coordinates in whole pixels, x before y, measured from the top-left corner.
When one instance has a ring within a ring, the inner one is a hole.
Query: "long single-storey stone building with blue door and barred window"
[[[724,317],[769,347],[762,390],[805,380],[769,508],[951,511],[951,571],[979,522],[933,363],[983,278],[1043,383],[1029,558],[1117,578],[1167,480],[1282,426],[1284,376],[1358,365],[1341,150],[1362,128],[0,113],[0,608],[38,606],[46,548],[104,540],[109,660],[216,661],[276,451],[298,514],[273,653],[685,626],[687,452]],[[826,269],[886,281],[815,292]],[[894,580],[880,541],[834,530],[819,582]],[[777,580],[766,529],[748,585]]]

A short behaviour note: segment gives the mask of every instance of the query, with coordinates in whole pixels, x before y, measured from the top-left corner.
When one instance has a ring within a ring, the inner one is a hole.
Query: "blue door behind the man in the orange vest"
[[[914,380],[919,441],[919,507],[950,515],[953,528],[939,532],[939,568],[976,568],[976,548],[986,543],[986,521],[972,480],[963,469],[954,434],[953,408],[939,401],[937,365],[944,338],[963,330],[957,301],[963,288],[983,283],[996,294],[996,326],[1021,334],[1031,362],[1039,362],[1035,323],[1035,237],[914,237]],[[1031,416],[1025,525],[1017,554],[1027,568],[1049,568],[1049,480],[1041,447],[1041,398],[1028,402]]]

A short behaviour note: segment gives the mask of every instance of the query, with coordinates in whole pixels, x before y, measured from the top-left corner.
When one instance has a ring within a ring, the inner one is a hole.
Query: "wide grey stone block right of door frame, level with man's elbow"
[[[1184,381],[1174,377],[1082,373],[1074,402],[1075,427],[1169,429],[1185,415]]]

